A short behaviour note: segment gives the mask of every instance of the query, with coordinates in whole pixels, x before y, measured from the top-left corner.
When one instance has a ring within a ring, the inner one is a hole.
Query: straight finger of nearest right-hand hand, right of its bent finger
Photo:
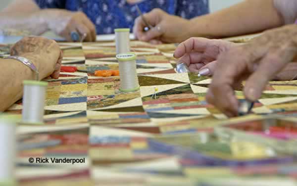
[[[272,79],[286,64],[294,58],[295,48],[282,46],[282,48],[270,50],[260,60],[256,71],[247,79],[244,93],[247,99],[256,101],[270,79]]]

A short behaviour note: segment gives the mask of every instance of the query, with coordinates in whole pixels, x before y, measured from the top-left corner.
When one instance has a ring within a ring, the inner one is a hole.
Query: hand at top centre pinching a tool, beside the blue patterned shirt
[[[187,33],[189,20],[169,15],[161,9],[155,8],[144,14],[148,24],[154,26],[145,32],[146,27],[141,16],[135,19],[133,33],[141,41],[151,43],[180,43],[189,38]]]

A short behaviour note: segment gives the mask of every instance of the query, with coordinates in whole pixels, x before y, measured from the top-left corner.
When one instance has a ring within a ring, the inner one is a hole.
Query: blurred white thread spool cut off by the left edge
[[[15,186],[16,121],[14,116],[0,115],[0,186]]]

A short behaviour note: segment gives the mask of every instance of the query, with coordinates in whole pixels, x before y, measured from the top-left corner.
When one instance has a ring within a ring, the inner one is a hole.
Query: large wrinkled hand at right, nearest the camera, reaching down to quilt
[[[297,54],[297,25],[264,32],[246,45],[219,55],[206,99],[227,116],[237,116],[239,102],[234,88],[246,81],[244,94],[250,101],[261,96],[273,79]],[[287,69],[288,70],[288,69]]]

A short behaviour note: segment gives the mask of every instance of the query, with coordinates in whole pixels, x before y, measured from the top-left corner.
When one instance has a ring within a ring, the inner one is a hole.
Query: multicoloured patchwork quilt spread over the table
[[[270,82],[252,114],[228,119],[205,101],[210,78],[175,72],[175,44],[131,41],[141,86],[131,93],[119,91],[119,77],[94,75],[95,70],[118,69],[114,42],[60,47],[63,65],[80,71],[45,80],[44,125],[18,126],[21,185],[41,180],[59,186],[220,185],[226,178],[248,183],[245,176],[255,172],[262,176],[254,181],[269,183],[272,176],[275,182],[294,182],[297,81]],[[242,90],[236,95],[244,99]],[[20,116],[21,109],[18,101],[7,113]],[[30,167],[30,157],[85,162]]]

